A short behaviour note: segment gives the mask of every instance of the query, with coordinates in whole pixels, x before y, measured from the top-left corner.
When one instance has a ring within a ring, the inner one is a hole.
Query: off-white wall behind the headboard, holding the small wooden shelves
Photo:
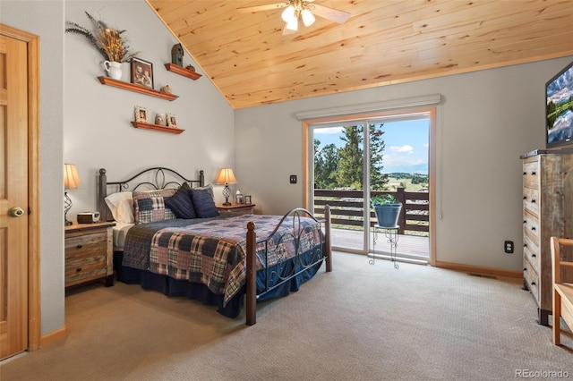
[[[81,187],[68,191],[73,200],[68,218],[74,220],[78,212],[96,210],[101,167],[107,169],[108,181],[124,180],[161,165],[190,177],[202,169],[206,182],[214,182],[222,166],[233,167],[233,109],[206,76],[189,80],[167,72],[164,63],[171,62],[171,48],[177,41],[150,6],[142,0],[68,0],[65,20],[91,28],[84,12],[126,30],[130,46],[139,52],[137,56],[153,63],[155,89],[168,84],[179,97],[170,102],[100,84],[98,76],[105,75],[101,55],[85,38],[65,34],[64,162],[75,164],[81,178]],[[185,53],[187,64],[203,74]],[[130,70],[130,64],[124,63],[122,80],[130,81]],[[134,106],[146,107],[153,117],[156,113],[175,114],[185,131],[175,135],[135,129],[130,123]],[[220,191],[216,195],[223,199]]]

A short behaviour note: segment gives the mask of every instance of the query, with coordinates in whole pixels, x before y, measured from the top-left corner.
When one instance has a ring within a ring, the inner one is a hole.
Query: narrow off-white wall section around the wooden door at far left
[[[64,326],[64,2],[0,2],[0,22],[39,36],[41,333]]]

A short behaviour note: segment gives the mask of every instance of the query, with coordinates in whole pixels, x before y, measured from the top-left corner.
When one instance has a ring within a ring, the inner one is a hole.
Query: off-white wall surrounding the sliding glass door
[[[259,210],[303,202],[302,123],[295,113],[440,93],[436,141],[436,259],[521,271],[519,156],[544,148],[544,84],[572,57],[235,111],[237,178]],[[262,174],[262,175],[261,175]],[[503,241],[515,241],[514,254]]]

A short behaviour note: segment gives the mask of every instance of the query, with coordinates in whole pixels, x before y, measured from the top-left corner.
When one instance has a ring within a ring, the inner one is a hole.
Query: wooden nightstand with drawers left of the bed
[[[115,222],[65,226],[65,287],[96,280],[114,285]]]

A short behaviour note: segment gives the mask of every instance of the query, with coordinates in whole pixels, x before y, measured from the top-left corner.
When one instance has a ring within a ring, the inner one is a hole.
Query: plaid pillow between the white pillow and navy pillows
[[[173,211],[166,207],[165,199],[175,194],[175,189],[133,191],[135,224],[148,224],[175,219]]]

